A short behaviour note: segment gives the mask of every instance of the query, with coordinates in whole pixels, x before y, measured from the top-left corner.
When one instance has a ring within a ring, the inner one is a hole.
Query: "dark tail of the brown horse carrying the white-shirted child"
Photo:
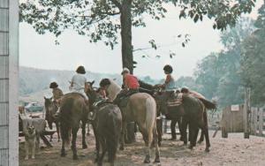
[[[73,102],[68,100],[64,102],[67,104],[62,104],[60,107],[60,132],[62,140],[65,141],[66,145],[70,144],[70,132],[71,132],[71,109]]]

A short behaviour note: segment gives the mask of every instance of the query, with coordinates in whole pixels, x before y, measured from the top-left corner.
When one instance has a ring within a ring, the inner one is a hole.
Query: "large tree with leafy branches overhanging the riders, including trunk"
[[[59,36],[65,29],[87,35],[90,42],[103,41],[113,49],[121,34],[123,67],[133,72],[132,26],[146,26],[144,16],[162,19],[171,3],[181,10],[179,18],[197,22],[215,19],[214,28],[234,26],[241,13],[252,11],[254,0],[27,0],[19,6],[20,20],[34,26],[39,34]],[[119,16],[119,18],[118,18]]]

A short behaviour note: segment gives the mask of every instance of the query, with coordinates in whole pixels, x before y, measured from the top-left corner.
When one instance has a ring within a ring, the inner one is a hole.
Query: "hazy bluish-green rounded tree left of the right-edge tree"
[[[239,19],[238,24],[221,34],[224,49],[202,59],[195,72],[199,91],[218,105],[243,102],[244,85],[240,77],[242,43],[254,31],[254,20]]]

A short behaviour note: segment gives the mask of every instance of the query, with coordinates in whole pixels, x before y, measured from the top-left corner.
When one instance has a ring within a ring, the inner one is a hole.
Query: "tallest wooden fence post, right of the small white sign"
[[[249,109],[250,109],[250,88],[245,88],[245,103],[243,109],[244,138],[249,139]]]

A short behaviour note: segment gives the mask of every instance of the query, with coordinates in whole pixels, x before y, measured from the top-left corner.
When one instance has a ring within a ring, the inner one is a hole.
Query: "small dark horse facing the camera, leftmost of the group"
[[[52,98],[46,98],[44,97],[44,105],[45,105],[45,120],[47,120],[49,129],[52,130],[52,124],[55,123],[57,127],[57,136],[58,136],[58,142],[60,141],[60,126],[59,121],[55,117],[57,113],[57,104],[55,102],[52,102]],[[52,141],[52,134],[50,135],[49,141]]]

